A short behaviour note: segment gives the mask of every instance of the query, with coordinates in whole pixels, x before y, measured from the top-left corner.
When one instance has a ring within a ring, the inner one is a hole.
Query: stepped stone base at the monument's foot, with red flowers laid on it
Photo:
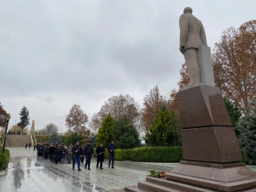
[[[165,178],[146,177],[125,191],[256,191],[256,172],[244,163],[211,164],[181,161]]]

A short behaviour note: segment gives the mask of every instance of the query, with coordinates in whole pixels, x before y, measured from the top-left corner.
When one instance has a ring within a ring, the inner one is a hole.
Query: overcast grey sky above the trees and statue
[[[113,95],[142,107],[158,84],[168,98],[185,61],[178,19],[187,6],[211,50],[222,31],[256,16],[253,0],[1,0],[0,101],[10,124],[26,106],[36,130],[54,123],[63,132],[75,103],[91,118]]]

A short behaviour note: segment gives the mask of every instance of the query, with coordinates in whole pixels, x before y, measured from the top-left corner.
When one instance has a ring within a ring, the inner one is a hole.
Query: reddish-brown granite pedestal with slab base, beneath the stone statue
[[[185,191],[256,191],[256,173],[241,163],[221,91],[199,85],[178,93],[183,158],[167,180]],[[194,187],[198,190],[194,190]]]

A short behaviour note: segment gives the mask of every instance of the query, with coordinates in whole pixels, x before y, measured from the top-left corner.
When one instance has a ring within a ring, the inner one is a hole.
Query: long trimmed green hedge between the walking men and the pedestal
[[[107,151],[107,149],[105,149]],[[97,157],[95,150],[95,157]],[[105,154],[108,158],[108,153]],[[182,147],[138,147],[133,149],[118,149],[115,160],[138,162],[168,162],[178,163],[182,160]]]

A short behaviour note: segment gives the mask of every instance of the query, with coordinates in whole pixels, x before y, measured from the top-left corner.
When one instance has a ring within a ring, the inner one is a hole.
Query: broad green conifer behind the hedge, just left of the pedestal
[[[164,105],[145,134],[145,141],[151,146],[177,146],[181,144],[180,124],[175,112]]]

